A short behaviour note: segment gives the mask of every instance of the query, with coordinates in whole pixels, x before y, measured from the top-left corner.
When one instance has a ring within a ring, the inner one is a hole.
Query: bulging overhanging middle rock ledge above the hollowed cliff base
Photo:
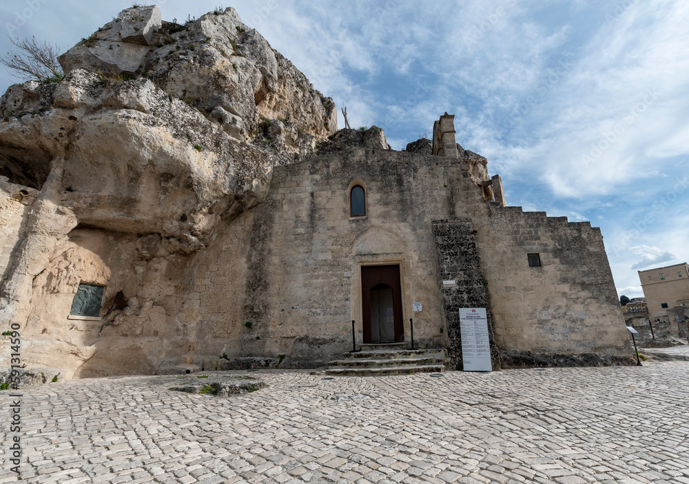
[[[203,245],[220,216],[260,201],[272,166],[285,162],[148,79],[99,81],[74,70],[8,94],[0,102],[6,176],[40,190],[63,157],[60,201],[80,223],[160,233],[185,250]]]

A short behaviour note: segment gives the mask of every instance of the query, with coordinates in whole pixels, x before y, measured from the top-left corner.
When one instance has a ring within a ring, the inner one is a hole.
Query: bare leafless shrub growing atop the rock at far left
[[[56,82],[62,79],[64,73],[57,61],[59,48],[48,42],[39,44],[36,37],[19,39],[10,37],[12,46],[17,48],[0,57],[0,63],[6,65],[12,74],[24,81]]]

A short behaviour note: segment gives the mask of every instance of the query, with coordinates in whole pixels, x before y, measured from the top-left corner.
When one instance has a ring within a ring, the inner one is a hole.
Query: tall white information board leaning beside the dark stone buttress
[[[492,372],[491,343],[485,307],[460,309],[462,363],[465,372]]]

